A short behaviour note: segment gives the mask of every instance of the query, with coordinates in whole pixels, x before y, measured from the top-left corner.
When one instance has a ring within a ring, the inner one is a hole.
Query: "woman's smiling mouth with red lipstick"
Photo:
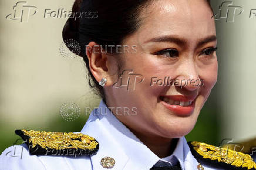
[[[194,111],[195,99],[196,96],[160,96],[160,103],[177,115],[187,116]]]

